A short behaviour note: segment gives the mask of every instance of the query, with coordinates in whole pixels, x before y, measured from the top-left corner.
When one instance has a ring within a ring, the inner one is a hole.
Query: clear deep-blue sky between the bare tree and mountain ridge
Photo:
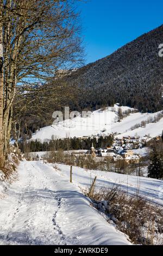
[[[163,23],[162,0],[83,0],[79,9],[86,63],[108,56]]]

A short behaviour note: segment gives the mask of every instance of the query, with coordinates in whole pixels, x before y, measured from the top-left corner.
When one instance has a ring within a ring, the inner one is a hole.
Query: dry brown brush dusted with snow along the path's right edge
[[[163,209],[139,196],[129,196],[120,186],[102,188],[92,195],[93,206],[108,222],[135,244],[163,245]]]

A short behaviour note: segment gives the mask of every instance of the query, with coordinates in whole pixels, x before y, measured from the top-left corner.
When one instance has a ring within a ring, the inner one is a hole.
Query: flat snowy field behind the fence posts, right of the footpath
[[[57,164],[60,168],[60,174],[64,175],[67,180],[70,176],[70,166],[64,164]],[[73,167],[73,183],[85,189],[89,188],[91,181],[97,176],[96,188],[112,187],[115,184],[121,185],[124,191],[129,194],[136,194],[137,188],[139,195],[152,201],[153,203],[163,205],[163,181],[132,176],[126,174],[118,174],[112,172],[103,172],[101,170],[86,170],[80,167]]]

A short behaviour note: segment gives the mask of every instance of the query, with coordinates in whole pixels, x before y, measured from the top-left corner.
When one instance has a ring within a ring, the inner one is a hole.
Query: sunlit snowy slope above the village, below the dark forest
[[[134,136],[135,134],[143,137],[150,135],[155,137],[161,135],[163,127],[163,118],[157,123],[147,124],[145,128],[139,127],[131,130],[131,127],[140,124],[141,121],[146,121],[150,118],[154,118],[158,113],[131,113],[119,123],[118,122],[118,107],[108,107],[105,109],[99,109],[92,112],[87,117],[75,117],[73,119],[67,119],[61,121],[58,124],[52,126],[43,127],[40,131],[37,131],[32,139],[46,141],[54,138],[66,138],[66,137],[83,137],[83,136],[97,136],[97,135],[109,135],[110,133],[117,132],[117,137]],[[129,107],[121,107],[122,112],[133,109]],[[119,134],[120,133],[120,134]]]

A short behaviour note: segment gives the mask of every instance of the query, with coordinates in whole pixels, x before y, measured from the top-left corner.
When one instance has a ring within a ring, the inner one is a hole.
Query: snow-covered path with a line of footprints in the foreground
[[[126,245],[126,236],[52,166],[23,161],[0,199],[0,245]]]

